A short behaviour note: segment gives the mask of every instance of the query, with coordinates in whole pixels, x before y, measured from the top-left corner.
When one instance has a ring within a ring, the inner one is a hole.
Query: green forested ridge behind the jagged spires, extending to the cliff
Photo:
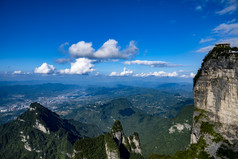
[[[105,132],[110,131],[115,120],[120,120],[126,135],[134,131],[140,134],[143,155],[147,157],[151,153],[173,154],[189,144],[191,129],[185,128],[184,124],[192,125],[193,106],[184,107],[181,112],[174,119],[161,118],[134,108],[125,98],[119,98],[102,105],[80,107],[66,117],[95,123]],[[169,129],[176,124],[183,124],[183,130],[178,132],[174,128],[170,134]]]

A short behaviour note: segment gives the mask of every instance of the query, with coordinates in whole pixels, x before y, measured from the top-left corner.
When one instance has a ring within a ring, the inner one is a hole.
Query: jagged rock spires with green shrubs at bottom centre
[[[116,120],[111,132],[96,138],[78,140],[74,144],[75,159],[143,159],[139,134],[126,137],[121,123]]]

